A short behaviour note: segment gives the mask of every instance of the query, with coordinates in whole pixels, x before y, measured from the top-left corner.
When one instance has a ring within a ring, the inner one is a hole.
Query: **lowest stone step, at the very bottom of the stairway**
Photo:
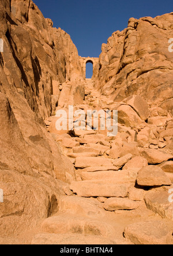
[[[93,235],[81,235],[81,234],[69,234],[69,233],[64,233],[64,234],[39,233],[32,239],[31,244],[32,245],[36,245],[36,244],[39,244],[39,245],[119,244],[119,242],[116,243],[116,240],[101,238],[101,236],[93,236]],[[74,253],[74,251],[71,251],[71,253]]]

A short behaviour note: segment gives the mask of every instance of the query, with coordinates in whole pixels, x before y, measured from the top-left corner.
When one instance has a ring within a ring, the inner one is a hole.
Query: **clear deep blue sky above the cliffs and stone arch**
[[[173,0],[33,0],[54,27],[65,30],[82,57],[99,57],[101,44],[131,17],[173,12]]]

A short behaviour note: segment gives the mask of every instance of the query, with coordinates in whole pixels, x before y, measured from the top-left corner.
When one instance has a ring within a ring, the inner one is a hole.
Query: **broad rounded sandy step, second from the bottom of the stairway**
[[[94,235],[108,237],[114,235],[114,228],[106,222],[93,218],[78,217],[72,214],[61,214],[43,221],[41,233],[76,233],[82,235]]]

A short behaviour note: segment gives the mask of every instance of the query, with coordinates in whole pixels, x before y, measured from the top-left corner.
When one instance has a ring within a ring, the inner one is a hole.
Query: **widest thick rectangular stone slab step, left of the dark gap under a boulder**
[[[110,184],[95,181],[73,181],[70,190],[81,197],[122,197],[125,198],[129,192],[129,184]]]

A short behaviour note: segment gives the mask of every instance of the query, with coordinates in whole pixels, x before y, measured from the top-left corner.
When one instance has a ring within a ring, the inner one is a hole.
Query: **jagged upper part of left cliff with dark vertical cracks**
[[[1,3],[4,53],[1,66],[9,84],[39,117],[51,113],[52,88],[82,77],[76,46],[61,28],[52,28],[30,0]]]

